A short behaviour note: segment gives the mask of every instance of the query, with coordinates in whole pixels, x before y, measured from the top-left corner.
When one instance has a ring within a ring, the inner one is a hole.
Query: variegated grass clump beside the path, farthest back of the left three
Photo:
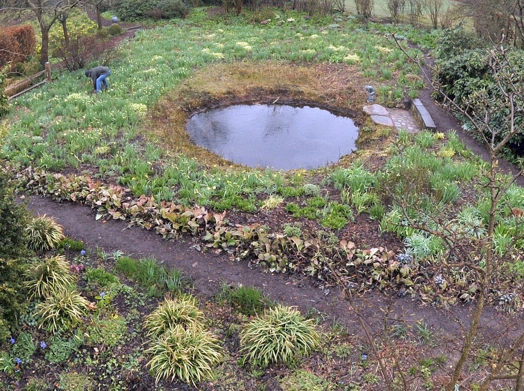
[[[63,227],[45,214],[30,221],[26,232],[27,248],[37,253],[56,248],[64,238]]]

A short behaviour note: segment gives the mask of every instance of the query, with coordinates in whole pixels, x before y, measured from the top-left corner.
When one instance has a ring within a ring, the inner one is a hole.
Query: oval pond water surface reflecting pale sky
[[[193,115],[196,145],[249,167],[318,168],[356,150],[358,127],[318,107],[241,104]]]

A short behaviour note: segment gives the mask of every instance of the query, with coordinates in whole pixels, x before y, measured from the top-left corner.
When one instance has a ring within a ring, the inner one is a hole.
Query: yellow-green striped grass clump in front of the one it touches
[[[214,335],[196,328],[184,329],[180,324],[153,340],[145,353],[152,356],[147,366],[157,383],[179,378],[195,386],[212,378],[213,366],[222,360],[222,349]]]

